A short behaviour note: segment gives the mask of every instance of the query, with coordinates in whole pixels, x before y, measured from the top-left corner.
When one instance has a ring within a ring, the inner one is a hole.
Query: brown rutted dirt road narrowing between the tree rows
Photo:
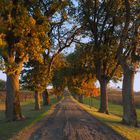
[[[18,139],[18,138],[17,138]],[[123,140],[66,96],[54,112],[19,139],[23,140]]]

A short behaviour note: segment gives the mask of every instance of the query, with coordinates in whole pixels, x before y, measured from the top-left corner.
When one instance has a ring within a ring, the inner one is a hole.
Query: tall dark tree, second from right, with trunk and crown
[[[119,74],[119,64],[115,60],[117,36],[114,34],[117,25],[115,16],[118,1],[79,0],[79,22],[84,36],[90,39],[90,56],[93,57],[96,78],[100,83],[100,109],[108,114],[109,81]],[[86,34],[85,34],[86,33]],[[120,70],[119,70],[120,71]]]

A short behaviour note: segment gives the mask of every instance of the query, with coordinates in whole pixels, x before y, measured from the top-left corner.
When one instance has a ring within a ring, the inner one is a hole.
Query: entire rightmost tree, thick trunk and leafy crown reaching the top
[[[137,114],[134,105],[134,75],[140,61],[139,53],[139,12],[138,1],[124,0],[120,6],[124,13],[120,15],[119,47],[117,59],[123,69],[123,122],[137,126]],[[116,11],[120,14],[120,11]],[[118,31],[117,31],[118,32]]]

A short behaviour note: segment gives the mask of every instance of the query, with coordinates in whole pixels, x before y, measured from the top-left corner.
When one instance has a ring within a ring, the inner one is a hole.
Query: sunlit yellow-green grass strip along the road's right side
[[[90,107],[90,106],[91,107]],[[139,140],[140,139],[140,128],[135,128],[132,126],[123,125],[122,120],[122,106],[109,102],[109,112],[110,115],[106,115],[98,112],[99,100],[95,98],[85,97],[84,105],[80,104],[85,110],[90,114],[94,115],[100,121],[104,122],[106,125],[110,126],[113,130],[118,132],[120,135],[124,136],[129,140]],[[137,109],[138,121],[140,123],[140,109]]]

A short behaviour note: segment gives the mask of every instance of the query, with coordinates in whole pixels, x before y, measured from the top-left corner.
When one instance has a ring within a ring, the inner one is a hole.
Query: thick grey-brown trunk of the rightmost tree
[[[123,77],[123,123],[137,126],[137,114],[134,104],[134,71],[125,68]]]

